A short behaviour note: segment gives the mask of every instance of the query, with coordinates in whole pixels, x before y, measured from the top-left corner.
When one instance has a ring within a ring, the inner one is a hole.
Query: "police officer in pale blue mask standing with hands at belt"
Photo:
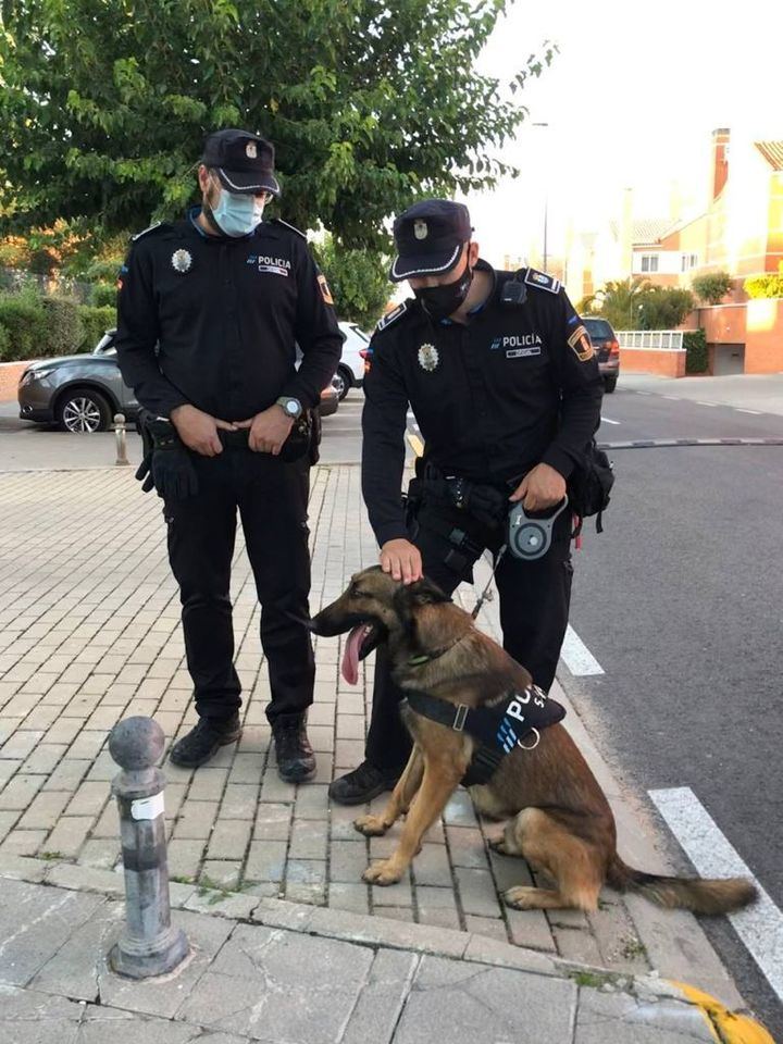
[[[199,766],[241,734],[229,598],[237,509],[261,602],[281,775],[311,779],[313,698],[307,504],[311,436],[341,335],[304,236],[264,203],[272,145],[244,130],[204,144],[201,207],[134,237],[117,299],[117,361],[149,411],[198,723],[171,760]],[[303,353],[295,368],[296,345]]]

